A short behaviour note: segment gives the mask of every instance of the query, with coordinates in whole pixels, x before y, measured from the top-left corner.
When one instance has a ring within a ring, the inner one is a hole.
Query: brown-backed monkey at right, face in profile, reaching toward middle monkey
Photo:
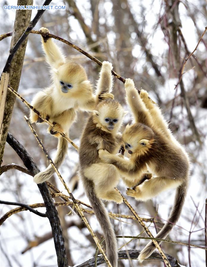
[[[99,150],[99,157],[103,162],[116,166],[129,181],[138,182],[137,177],[142,179],[147,166],[156,175],[151,178],[148,174],[149,179],[142,185],[127,190],[127,195],[137,200],[146,201],[166,189],[177,188],[168,222],[156,236],[163,239],[178,221],[185,201],[189,179],[188,155],[171,134],[160,109],[148,99],[148,93],[142,90],[139,95],[131,79],[126,80],[125,90],[135,120],[122,135],[130,158],[126,160],[106,150]],[[154,249],[150,241],[141,251],[139,261],[148,258]]]

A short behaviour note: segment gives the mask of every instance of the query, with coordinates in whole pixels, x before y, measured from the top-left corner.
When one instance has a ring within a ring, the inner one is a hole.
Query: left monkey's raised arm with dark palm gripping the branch
[[[52,68],[58,68],[65,63],[64,55],[60,48],[53,42],[52,38],[48,37],[49,30],[47,28],[40,28],[42,34],[42,47],[46,55],[46,61]]]

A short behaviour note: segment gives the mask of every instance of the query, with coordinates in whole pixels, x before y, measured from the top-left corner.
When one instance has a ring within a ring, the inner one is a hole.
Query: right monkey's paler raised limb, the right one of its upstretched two
[[[145,90],[141,90],[140,98],[144,102],[146,108],[149,110],[154,126],[161,129],[162,131],[165,131],[166,134],[171,135],[168,128],[168,123],[163,117],[161,110],[158,106],[154,105],[151,102],[151,100],[148,98],[148,93]]]

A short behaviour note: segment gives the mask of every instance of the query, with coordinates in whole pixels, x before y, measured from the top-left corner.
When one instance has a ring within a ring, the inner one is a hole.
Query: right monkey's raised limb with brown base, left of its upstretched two
[[[151,127],[153,125],[153,122],[151,120],[150,113],[141,100],[138,91],[135,89],[133,80],[126,79],[124,86],[126,90],[127,104],[132,110],[135,122],[143,123]]]

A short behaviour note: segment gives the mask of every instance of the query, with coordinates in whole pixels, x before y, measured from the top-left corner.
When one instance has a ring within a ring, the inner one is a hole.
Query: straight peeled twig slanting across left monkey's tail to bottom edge
[[[54,170],[56,171],[59,179],[61,180],[62,184],[64,185],[65,189],[67,190],[69,196],[71,197],[73,203],[74,203],[74,206],[75,208],[77,209],[78,213],[80,214],[83,222],[85,223],[86,227],[88,228],[89,232],[91,233],[91,236],[93,237],[97,247],[99,248],[101,254],[103,255],[105,261],[106,261],[106,264],[110,267],[111,264],[102,248],[102,246],[100,245],[99,243],[99,240],[96,236],[96,234],[94,233],[93,229],[91,228],[88,220],[86,219],[85,215],[83,214],[83,211],[81,210],[80,206],[78,205],[78,202],[76,201],[76,199],[74,198],[72,192],[69,190],[69,187],[67,186],[66,182],[64,181],[63,177],[61,176],[61,174],[59,173],[58,169],[56,168],[56,166],[54,165],[53,163],[53,160],[50,158],[50,155],[48,154],[48,152],[46,151],[46,149],[44,148],[43,144],[42,144],[42,141],[39,139],[39,137],[37,136],[37,133],[35,132],[34,128],[32,127],[31,123],[29,122],[28,118],[26,116],[24,116],[27,124],[29,125],[29,128],[31,129],[32,133],[34,134],[34,136],[36,137],[38,143],[39,143],[39,146],[42,148],[43,152],[45,153],[46,157],[48,158],[48,160],[50,161],[50,164],[53,166]]]

